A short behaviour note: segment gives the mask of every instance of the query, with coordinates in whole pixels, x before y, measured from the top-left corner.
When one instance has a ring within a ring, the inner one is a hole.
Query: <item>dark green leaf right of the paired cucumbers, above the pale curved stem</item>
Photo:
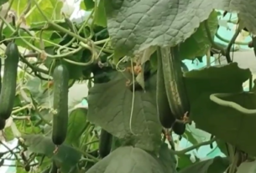
[[[193,105],[203,93],[232,93],[243,91],[243,82],[251,76],[249,69],[240,69],[238,63],[195,69],[185,73],[185,86]]]

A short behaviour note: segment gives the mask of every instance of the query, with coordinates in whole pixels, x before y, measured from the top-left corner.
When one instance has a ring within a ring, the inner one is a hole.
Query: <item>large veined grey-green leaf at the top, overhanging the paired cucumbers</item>
[[[212,9],[239,13],[239,19],[256,33],[255,1],[240,0],[105,0],[107,29],[116,58],[150,46],[174,46],[191,37]],[[182,2],[182,3],[181,3]]]

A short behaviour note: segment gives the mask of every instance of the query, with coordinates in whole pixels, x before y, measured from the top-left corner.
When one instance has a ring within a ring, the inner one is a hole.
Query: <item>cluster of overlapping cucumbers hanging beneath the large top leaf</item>
[[[185,133],[183,118],[190,109],[183,72],[180,64],[179,48],[157,48],[157,111],[159,121],[176,135]]]

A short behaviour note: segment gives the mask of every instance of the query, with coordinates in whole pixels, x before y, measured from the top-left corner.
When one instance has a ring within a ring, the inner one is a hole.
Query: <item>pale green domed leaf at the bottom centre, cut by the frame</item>
[[[166,151],[165,146],[162,149],[162,152]],[[120,147],[93,165],[86,173],[176,173],[175,167],[172,166],[174,165],[174,155],[170,156],[168,152],[159,155],[158,159],[146,151],[132,146]],[[165,163],[162,160],[165,160]]]

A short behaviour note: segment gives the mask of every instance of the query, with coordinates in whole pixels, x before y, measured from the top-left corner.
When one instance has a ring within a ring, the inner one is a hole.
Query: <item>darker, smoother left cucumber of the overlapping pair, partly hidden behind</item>
[[[170,110],[170,105],[167,99],[165,90],[165,80],[163,72],[163,64],[161,60],[160,48],[157,49],[157,82],[156,82],[156,101],[157,112],[161,125],[170,129],[175,123],[175,116]]]

